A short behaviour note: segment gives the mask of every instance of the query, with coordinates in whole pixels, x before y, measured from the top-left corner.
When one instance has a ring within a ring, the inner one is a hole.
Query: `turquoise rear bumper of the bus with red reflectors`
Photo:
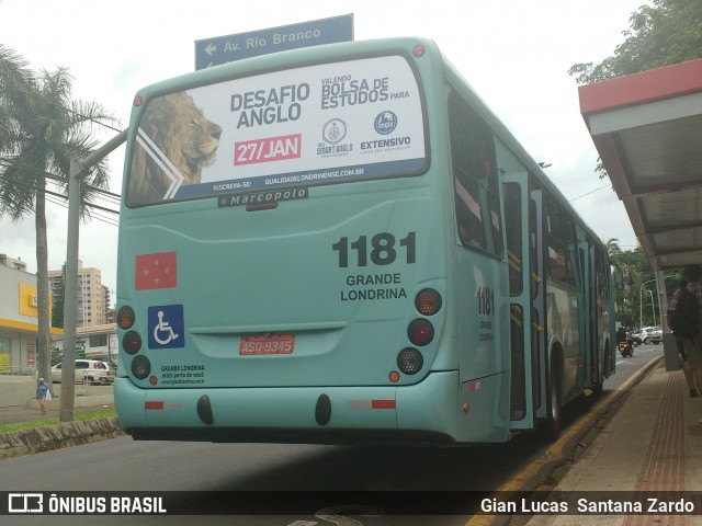
[[[455,442],[464,416],[457,371],[414,386],[353,388],[141,389],[117,377],[114,395],[120,424],[135,439]]]

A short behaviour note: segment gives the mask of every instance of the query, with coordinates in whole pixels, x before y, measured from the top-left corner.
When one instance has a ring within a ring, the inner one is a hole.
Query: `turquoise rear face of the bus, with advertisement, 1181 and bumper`
[[[138,93],[115,382],[135,439],[458,438],[440,65],[427,41],[351,43]]]

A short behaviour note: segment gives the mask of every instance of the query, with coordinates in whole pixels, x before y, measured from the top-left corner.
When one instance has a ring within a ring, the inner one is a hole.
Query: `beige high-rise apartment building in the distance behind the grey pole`
[[[63,271],[48,272],[49,287],[57,294],[63,283]],[[110,289],[102,285],[99,268],[83,267],[78,260],[78,312],[76,327],[104,325],[109,323]]]

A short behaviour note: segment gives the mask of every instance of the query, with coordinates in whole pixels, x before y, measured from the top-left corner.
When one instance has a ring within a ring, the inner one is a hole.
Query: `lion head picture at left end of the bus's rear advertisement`
[[[154,99],[139,123],[128,203],[158,203],[181,184],[200,183],[202,169],[215,162],[220,135],[184,91]]]

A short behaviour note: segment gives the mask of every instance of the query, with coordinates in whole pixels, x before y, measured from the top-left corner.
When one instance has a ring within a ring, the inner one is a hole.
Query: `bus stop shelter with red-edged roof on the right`
[[[668,365],[675,340],[665,321],[664,271],[702,263],[702,59],[581,85],[579,99],[656,272]]]

